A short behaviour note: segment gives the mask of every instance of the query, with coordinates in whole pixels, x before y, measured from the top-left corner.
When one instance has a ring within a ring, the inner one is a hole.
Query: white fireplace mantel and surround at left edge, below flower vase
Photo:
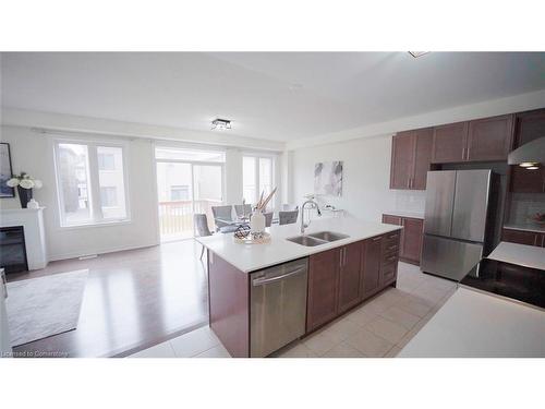
[[[45,207],[0,209],[0,227],[23,226],[28,269],[44,268],[48,263],[44,209]]]

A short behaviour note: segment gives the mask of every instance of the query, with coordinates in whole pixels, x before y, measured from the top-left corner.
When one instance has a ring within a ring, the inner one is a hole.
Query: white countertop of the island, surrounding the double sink
[[[271,236],[270,243],[267,244],[240,244],[234,242],[232,233],[216,233],[196,240],[240,270],[251,273],[401,229],[400,226],[362,221],[352,217],[314,219],[311,226],[306,228],[306,234],[327,230],[348,234],[349,238],[316,246],[304,246],[286,240],[287,238],[300,236],[300,222],[284,226],[274,225],[267,229]]]

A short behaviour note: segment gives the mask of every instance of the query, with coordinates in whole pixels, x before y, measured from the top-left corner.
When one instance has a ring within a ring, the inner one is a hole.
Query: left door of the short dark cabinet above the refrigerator
[[[468,122],[449,123],[434,128],[432,163],[463,161],[468,139]]]

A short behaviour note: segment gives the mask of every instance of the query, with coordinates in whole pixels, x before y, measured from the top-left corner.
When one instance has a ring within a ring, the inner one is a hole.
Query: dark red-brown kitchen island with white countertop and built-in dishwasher
[[[313,220],[305,234],[342,238],[312,246],[288,240],[301,234],[299,224],[270,227],[267,244],[198,238],[208,254],[210,327],[233,357],[270,354],[395,286],[400,230],[347,217]]]

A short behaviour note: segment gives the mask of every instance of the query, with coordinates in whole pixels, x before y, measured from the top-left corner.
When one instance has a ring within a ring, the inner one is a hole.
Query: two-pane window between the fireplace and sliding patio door
[[[61,226],[128,219],[123,147],[58,141]]]

